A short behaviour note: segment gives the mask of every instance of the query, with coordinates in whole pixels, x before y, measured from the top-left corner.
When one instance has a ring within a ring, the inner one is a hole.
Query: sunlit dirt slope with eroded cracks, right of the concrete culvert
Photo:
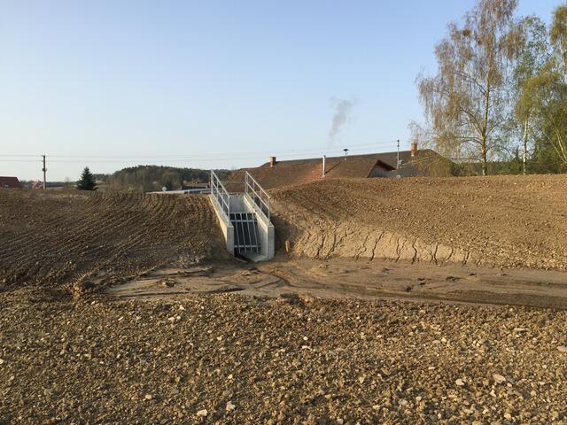
[[[567,270],[567,175],[315,182],[273,190],[296,255]]]

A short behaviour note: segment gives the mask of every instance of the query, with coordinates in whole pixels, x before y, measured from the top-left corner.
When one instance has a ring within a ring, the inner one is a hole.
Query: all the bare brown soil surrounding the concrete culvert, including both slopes
[[[0,424],[566,423],[566,178],[387,182],[253,266],[204,197],[0,190]]]

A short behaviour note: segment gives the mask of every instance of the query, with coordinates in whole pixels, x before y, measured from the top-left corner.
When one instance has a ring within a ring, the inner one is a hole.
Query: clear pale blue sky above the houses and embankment
[[[416,76],[474,3],[0,0],[0,175],[408,149]]]

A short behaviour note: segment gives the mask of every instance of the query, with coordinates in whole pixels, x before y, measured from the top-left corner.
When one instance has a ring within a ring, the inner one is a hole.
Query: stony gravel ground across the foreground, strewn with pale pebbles
[[[565,423],[567,313],[0,293],[2,423]]]

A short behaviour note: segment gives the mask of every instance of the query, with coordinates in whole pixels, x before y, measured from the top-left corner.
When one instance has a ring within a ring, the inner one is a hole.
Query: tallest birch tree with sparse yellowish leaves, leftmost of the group
[[[487,161],[508,143],[510,60],[521,42],[517,0],[479,0],[435,48],[438,73],[417,78],[425,120],[440,153]]]

